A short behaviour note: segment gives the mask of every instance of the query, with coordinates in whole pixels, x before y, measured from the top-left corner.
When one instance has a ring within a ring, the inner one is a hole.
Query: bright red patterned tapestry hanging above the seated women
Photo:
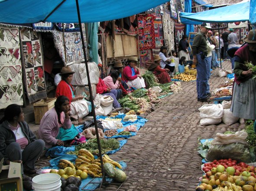
[[[155,16],[152,14],[138,16],[139,50],[147,50],[156,47],[154,19]]]

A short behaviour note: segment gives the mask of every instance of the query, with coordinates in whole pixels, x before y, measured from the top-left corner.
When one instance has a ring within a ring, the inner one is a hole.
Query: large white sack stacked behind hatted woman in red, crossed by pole
[[[88,85],[85,63],[72,64],[70,68],[75,72],[71,85]],[[97,84],[100,77],[100,71],[96,63],[88,63],[91,84]]]

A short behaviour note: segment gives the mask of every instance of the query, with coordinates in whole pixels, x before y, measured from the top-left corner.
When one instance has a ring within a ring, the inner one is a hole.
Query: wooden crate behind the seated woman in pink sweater
[[[35,112],[35,123],[40,124],[42,117],[44,114],[51,110],[54,107],[54,103],[56,98],[45,98],[44,100],[40,100],[34,103],[34,112]]]

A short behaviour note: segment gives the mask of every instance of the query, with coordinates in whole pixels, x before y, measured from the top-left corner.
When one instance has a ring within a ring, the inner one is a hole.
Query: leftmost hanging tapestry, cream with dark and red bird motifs
[[[0,109],[23,105],[19,28],[0,26]]]

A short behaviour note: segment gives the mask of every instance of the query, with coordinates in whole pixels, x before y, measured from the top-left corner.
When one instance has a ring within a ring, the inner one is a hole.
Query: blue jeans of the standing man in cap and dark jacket
[[[204,99],[207,97],[207,59],[201,59],[201,55],[197,54],[198,63],[197,69],[197,93],[199,99]]]

